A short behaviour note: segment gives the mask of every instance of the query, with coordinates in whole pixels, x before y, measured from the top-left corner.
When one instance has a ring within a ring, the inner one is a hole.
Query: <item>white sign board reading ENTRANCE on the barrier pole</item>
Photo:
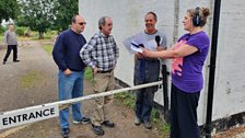
[[[0,129],[59,116],[57,105],[38,105],[0,114]]]

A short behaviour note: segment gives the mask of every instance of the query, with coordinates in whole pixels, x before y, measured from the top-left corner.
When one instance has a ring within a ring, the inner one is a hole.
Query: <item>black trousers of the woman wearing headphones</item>
[[[172,83],[171,138],[200,138],[197,106],[200,92],[186,93]]]

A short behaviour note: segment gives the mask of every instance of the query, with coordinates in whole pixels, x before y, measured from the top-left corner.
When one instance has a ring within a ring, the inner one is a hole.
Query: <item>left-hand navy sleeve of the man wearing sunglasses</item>
[[[67,64],[65,61],[65,44],[63,43],[65,43],[65,36],[63,34],[61,34],[58,36],[52,49],[52,58],[55,62],[57,64],[57,66],[59,67],[59,69],[61,69],[62,71],[68,69]]]

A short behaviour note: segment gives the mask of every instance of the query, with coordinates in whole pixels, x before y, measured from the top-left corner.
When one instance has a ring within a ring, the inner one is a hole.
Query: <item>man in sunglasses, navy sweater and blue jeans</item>
[[[86,67],[80,58],[79,51],[86,43],[81,34],[85,27],[85,21],[81,15],[72,18],[71,28],[63,31],[57,38],[52,50],[52,57],[59,68],[58,88],[59,100],[68,100],[83,95],[83,76]],[[69,107],[59,112],[61,135],[69,137]],[[72,104],[72,118],[74,124],[88,124],[90,118],[82,116],[81,103]]]

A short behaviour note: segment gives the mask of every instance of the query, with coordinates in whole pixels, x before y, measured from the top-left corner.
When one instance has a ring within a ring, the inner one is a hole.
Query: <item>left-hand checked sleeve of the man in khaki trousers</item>
[[[83,62],[91,68],[96,67],[96,61],[93,60],[92,51],[96,46],[96,36],[93,36],[89,43],[86,43],[80,50],[80,57],[82,58]]]

